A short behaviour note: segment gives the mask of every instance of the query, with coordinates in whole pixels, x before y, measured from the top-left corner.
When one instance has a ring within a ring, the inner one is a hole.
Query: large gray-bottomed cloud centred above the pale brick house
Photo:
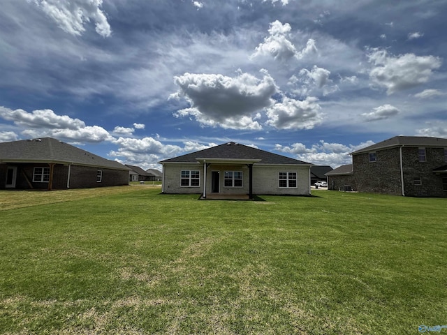
[[[272,105],[274,80],[264,71],[262,79],[239,72],[236,77],[185,73],[175,77],[179,87],[170,98],[185,98],[191,107],[176,117],[194,117],[202,126],[232,129],[260,129],[257,111]]]

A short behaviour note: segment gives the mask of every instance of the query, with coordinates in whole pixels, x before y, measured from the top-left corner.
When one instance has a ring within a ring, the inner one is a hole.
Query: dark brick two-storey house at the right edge
[[[329,189],[447,197],[447,139],[395,136],[351,156],[352,164],[326,173]]]

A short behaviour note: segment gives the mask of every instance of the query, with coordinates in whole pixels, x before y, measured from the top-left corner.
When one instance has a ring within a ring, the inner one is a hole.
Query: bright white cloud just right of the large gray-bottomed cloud
[[[277,129],[312,129],[323,120],[318,99],[308,96],[304,101],[284,97],[267,109],[267,124]]]

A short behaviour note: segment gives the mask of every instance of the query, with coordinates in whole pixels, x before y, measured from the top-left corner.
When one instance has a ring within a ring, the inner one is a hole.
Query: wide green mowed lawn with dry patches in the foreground
[[[312,191],[199,201],[160,191],[1,191],[0,333],[447,325],[447,199]]]

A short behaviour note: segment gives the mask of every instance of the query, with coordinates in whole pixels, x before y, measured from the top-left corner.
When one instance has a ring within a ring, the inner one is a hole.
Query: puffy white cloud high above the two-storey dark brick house
[[[439,57],[415,54],[393,57],[386,50],[379,49],[373,49],[368,59],[373,65],[369,72],[370,80],[376,86],[385,87],[387,94],[424,84],[430,79],[432,71],[441,67]]]

